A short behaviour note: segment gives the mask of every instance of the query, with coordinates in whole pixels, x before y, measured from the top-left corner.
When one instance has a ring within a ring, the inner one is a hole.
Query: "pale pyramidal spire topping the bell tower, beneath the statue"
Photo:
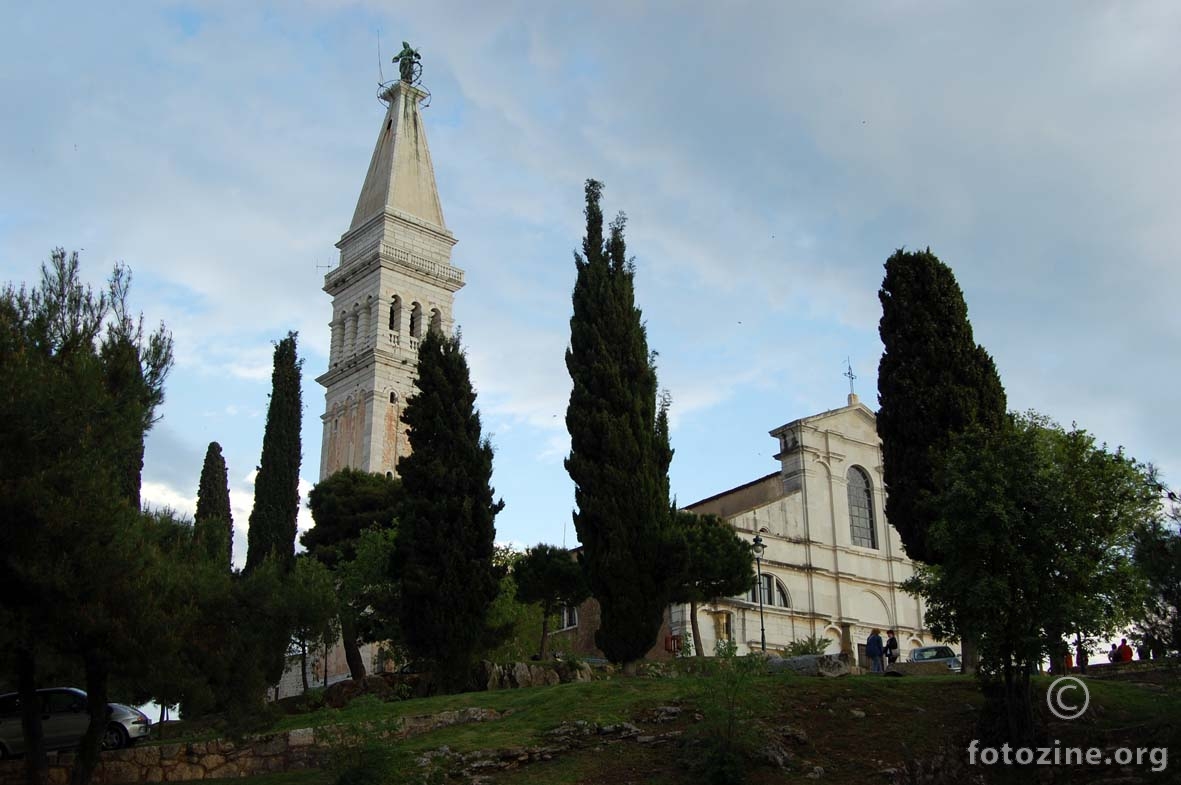
[[[389,104],[373,148],[350,231],[383,212],[402,214],[446,230],[435,166],[418,104],[426,93],[398,81],[383,93]]]

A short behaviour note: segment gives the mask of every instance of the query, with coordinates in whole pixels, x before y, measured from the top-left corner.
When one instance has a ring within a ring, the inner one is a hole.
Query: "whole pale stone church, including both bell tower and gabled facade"
[[[410,450],[402,408],[413,392],[418,341],[426,329],[450,333],[463,270],[451,266],[456,237],[446,228],[435,182],[422,104],[428,93],[403,79],[383,87],[385,117],[357,207],[324,279],[332,297],[320,479],[344,467],[398,476]],[[821,636],[829,652],[863,650],[869,629],[894,628],[906,649],[931,642],[919,600],[899,583],[913,574],[898,534],[887,525],[881,445],[874,413],[850,394],[848,405],[771,431],[779,467],[765,477],[686,509],[725,518],[765,547],[759,595],[702,606],[705,652],[731,640],[739,653],[775,650]],[[671,656],[691,629],[689,607],[674,606],[652,656]],[[563,613],[552,649],[595,655],[594,601]],[[376,646],[363,647],[379,670]],[[348,678],[338,645],[309,666],[308,681]],[[275,696],[302,689],[298,663]]]

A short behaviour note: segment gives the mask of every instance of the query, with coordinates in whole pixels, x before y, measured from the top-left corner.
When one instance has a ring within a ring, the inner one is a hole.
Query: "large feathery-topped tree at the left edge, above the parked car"
[[[37,287],[0,293],[0,665],[30,706],[46,667],[84,674],[91,722],[74,783],[96,765],[110,680],[169,635],[138,471],[172,342],[129,315],[129,286],[116,266],[94,293],[78,255],[57,249]],[[35,712],[24,731],[40,781]]]

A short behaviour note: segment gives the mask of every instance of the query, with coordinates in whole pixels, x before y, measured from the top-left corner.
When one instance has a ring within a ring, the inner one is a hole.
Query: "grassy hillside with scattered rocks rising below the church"
[[[1051,680],[1038,680],[1039,706]],[[1046,726],[1045,744],[1179,746],[1181,687],[1089,681],[1091,706],[1074,722]],[[462,708],[495,709],[497,719],[452,725],[397,741],[378,740],[398,718]],[[703,761],[740,761],[746,781],[840,785],[902,781],[916,764],[946,758],[947,781],[976,735],[983,699],[965,676],[849,676],[709,673],[621,678],[554,687],[380,702],[361,698],[344,709],[288,715],[276,730],[338,726],[354,743],[322,770],[252,778],[252,785],[328,785],[351,772],[360,784],[477,781],[530,785],[684,785],[709,781]],[[1052,718],[1051,718],[1052,719]],[[424,764],[425,757],[431,763]],[[1181,761],[1176,768],[1181,771]],[[890,773],[893,770],[893,774]],[[461,774],[461,772],[463,772]],[[1066,773],[1066,777],[1063,777]],[[1037,781],[1032,772],[967,770],[988,781]],[[810,776],[810,777],[809,777]],[[1140,779],[1141,777],[1144,779]],[[1053,781],[1177,781],[1095,768],[1058,772]],[[1127,779],[1133,777],[1133,779]],[[209,781],[209,780],[205,780]],[[229,783],[230,780],[226,780]],[[233,780],[241,783],[241,780]]]

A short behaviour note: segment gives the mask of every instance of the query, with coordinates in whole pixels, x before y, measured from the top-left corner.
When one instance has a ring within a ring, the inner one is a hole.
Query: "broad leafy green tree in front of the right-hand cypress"
[[[976,636],[999,731],[1027,741],[1037,663],[1064,635],[1121,628],[1142,597],[1131,547],[1159,515],[1155,490],[1121,451],[1038,416],[953,437],[938,488],[928,536],[942,560],[906,588],[927,601],[937,637]]]

